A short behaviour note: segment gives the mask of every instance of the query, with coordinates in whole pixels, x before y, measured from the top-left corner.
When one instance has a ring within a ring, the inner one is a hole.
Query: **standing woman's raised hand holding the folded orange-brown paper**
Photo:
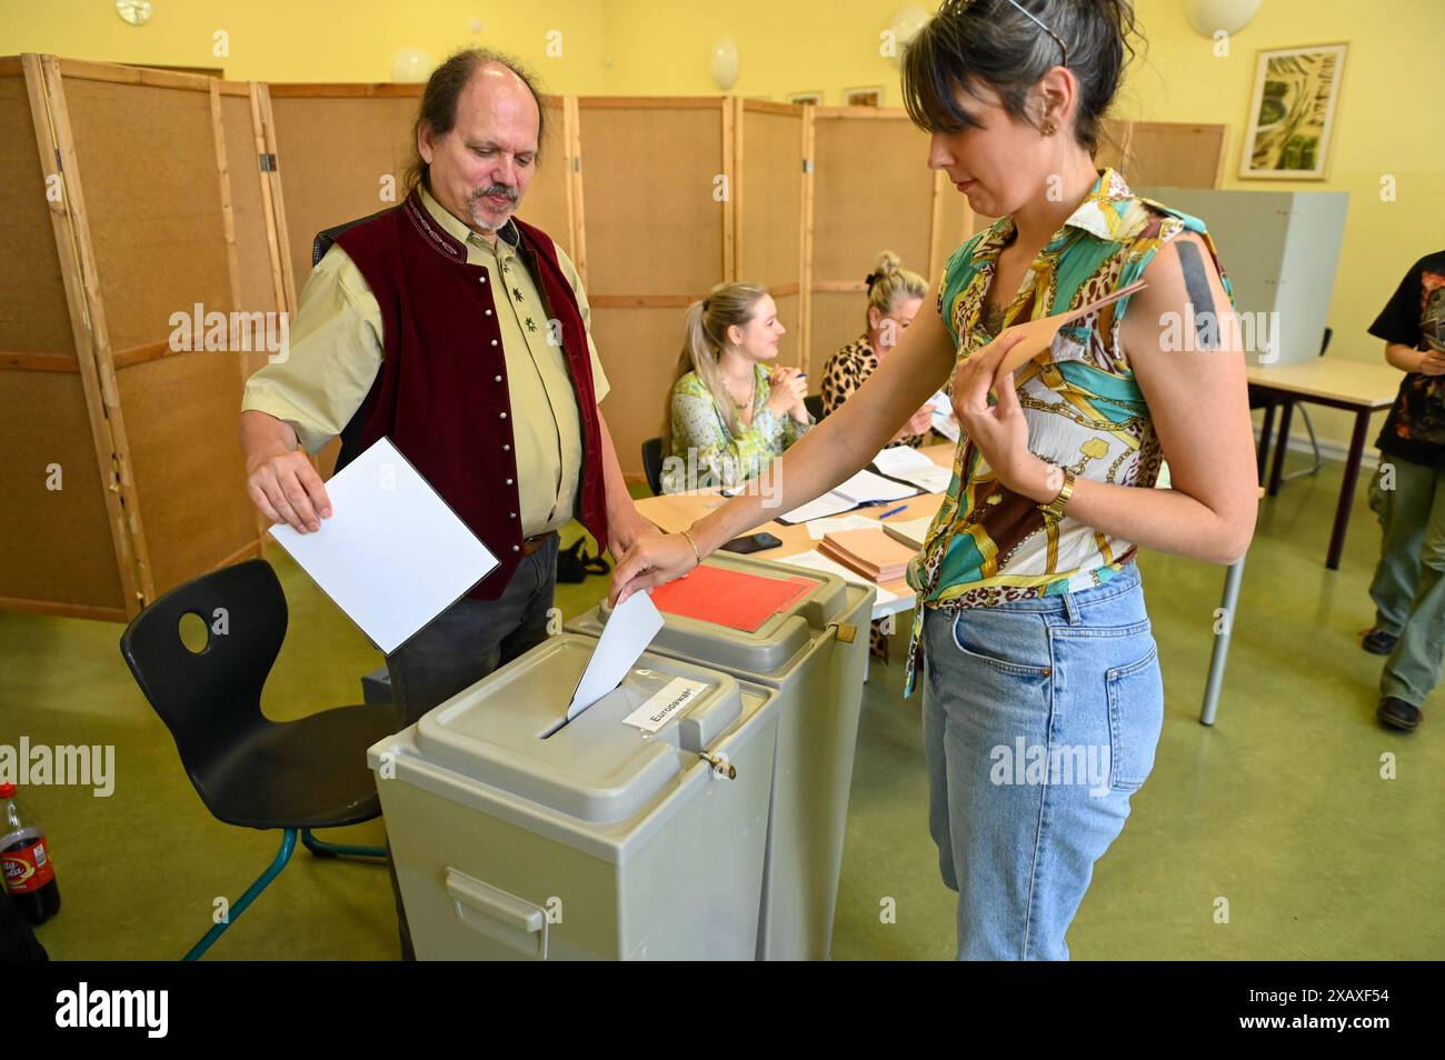
[[[994,478],[1016,494],[1040,504],[1053,500],[1055,469],[1029,451],[1029,423],[1013,387],[1013,373],[1000,373],[1004,357],[1025,335],[1006,331],[954,370],[954,414],[968,442],[993,469]],[[998,396],[988,404],[988,391]]]

